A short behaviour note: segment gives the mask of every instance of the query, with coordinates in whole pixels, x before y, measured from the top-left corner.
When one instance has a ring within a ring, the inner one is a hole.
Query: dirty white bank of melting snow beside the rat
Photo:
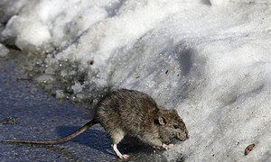
[[[78,71],[61,69],[61,76],[86,73],[84,83],[74,81],[75,94],[85,85],[111,85],[145,92],[176,109],[191,138],[165,151],[168,160],[182,154],[186,161],[271,161],[269,0],[1,5],[7,6],[1,20],[10,17],[2,37],[25,51],[51,53],[48,75],[61,60],[78,65]]]

